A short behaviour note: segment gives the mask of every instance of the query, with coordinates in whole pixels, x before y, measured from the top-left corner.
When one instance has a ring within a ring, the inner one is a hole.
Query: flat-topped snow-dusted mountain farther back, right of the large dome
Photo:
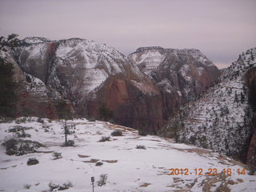
[[[219,70],[196,49],[138,48],[129,57],[162,90],[176,92],[190,101],[205,91],[219,76]]]

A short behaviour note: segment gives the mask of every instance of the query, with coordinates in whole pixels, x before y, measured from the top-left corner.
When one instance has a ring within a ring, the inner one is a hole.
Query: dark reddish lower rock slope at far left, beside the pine
[[[6,65],[14,67],[12,78],[17,85],[15,94],[18,98],[14,115],[58,118],[58,102],[63,100],[61,94],[46,86],[40,79],[24,73],[9,53],[1,51],[0,56],[6,61]],[[73,107],[70,104],[69,107],[72,111]]]

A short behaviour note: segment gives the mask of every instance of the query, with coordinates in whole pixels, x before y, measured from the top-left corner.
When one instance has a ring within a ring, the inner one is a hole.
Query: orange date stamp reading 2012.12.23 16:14
[[[217,169],[217,168],[209,168],[209,169],[202,169],[202,168],[196,168],[196,169],[188,169],[188,168],[171,168],[169,175],[217,175],[217,174],[225,174],[226,176],[231,176],[234,174],[238,175],[245,175],[246,169]]]

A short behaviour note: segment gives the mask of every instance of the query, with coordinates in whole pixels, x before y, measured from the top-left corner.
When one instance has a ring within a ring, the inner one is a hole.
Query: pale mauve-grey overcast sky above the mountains
[[[0,0],[0,36],[86,38],[130,54],[197,48],[219,68],[256,46],[256,0]]]

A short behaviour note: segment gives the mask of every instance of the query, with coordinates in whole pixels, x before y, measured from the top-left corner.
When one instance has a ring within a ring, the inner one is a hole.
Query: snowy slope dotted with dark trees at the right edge
[[[162,134],[246,162],[255,152],[255,57],[256,48],[240,55],[217,84],[170,118]]]

